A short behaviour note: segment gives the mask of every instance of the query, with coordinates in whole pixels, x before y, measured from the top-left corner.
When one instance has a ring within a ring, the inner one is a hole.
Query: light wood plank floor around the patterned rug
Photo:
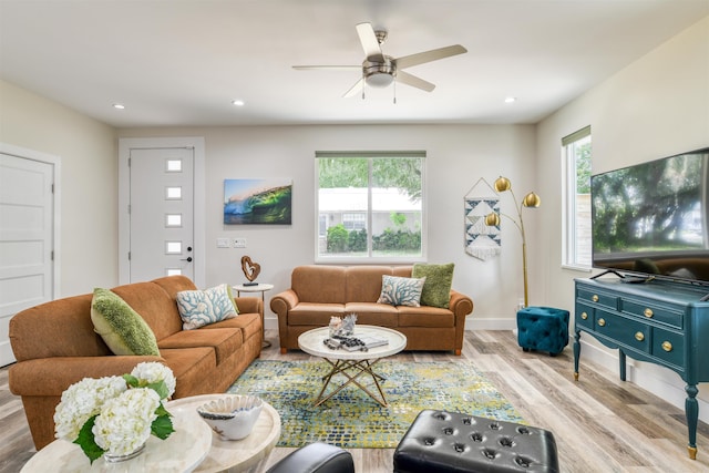
[[[274,347],[263,359],[302,360],[291,351],[281,356],[277,332],[267,331]],[[617,373],[586,363],[573,380],[571,347],[557,357],[525,353],[511,331],[469,331],[462,357],[450,353],[402,353],[405,361],[470,360],[483,371],[532,425],[554,432],[563,472],[707,472],[709,426],[699,423],[696,461],[687,456],[684,411]],[[682,381],[677,378],[677,382]],[[20,399],[8,389],[8,370],[0,369],[0,471],[18,472],[32,456]],[[264,472],[294,449],[275,449],[255,470]],[[391,472],[393,450],[353,449],[356,469],[362,473]],[[51,465],[48,465],[51,471]]]

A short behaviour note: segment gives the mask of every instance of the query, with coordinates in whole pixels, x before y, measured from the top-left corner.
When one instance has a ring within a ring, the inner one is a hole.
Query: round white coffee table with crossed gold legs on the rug
[[[332,349],[325,345],[325,339],[330,337],[329,327],[308,330],[298,337],[298,347],[308,354],[325,359],[330,363],[330,372],[322,380],[322,389],[315,400],[315,405],[320,405],[349,384],[354,384],[364,391],[370,398],[382,407],[387,407],[387,398],[379,381],[384,378],[373,371],[374,364],[386,357],[397,354],[407,347],[407,337],[397,330],[377,326],[354,326],[353,337],[377,337],[387,339],[388,343],[370,348],[367,351],[348,351],[343,348]],[[336,374],[345,377],[343,382],[326,394],[326,389]],[[379,397],[367,385],[362,384],[358,378],[369,374],[371,377]]]

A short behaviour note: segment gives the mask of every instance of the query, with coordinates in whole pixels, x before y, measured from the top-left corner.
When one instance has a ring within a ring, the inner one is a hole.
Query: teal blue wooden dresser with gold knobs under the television
[[[653,280],[575,279],[574,378],[578,380],[582,331],[617,348],[620,379],[626,356],[660,364],[687,383],[688,451],[697,455],[697,383],[709,381],[709,287]]]

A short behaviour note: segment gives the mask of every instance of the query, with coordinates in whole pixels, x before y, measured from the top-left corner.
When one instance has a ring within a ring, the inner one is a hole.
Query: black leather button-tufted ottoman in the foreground
[[[558,472],[547,430],[445,411],[421,411],[394,451],[394,473]]]

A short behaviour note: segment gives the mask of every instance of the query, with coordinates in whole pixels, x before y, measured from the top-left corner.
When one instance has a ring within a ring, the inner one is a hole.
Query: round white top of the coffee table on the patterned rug
[[[407,337],[397,330],[377,326],[354,326],[354,337],[358,336],[383,337],[389,340],[388,345],[370,348],[368,351],[347,351],[345,349],[331,349],[323,343],[330,336],[330,328],[308,330],[298,337],[298,347],[314,357],[327,358],[329,360],[373,360],[390,357],[407,348]]]

